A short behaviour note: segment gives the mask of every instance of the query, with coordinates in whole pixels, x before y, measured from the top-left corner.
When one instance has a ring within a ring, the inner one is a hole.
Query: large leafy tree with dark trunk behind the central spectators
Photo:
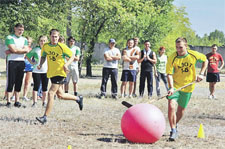
[[[161,3],[160,3],[161,2]],[[171,0],[77,0],[75,14],[79,17],[80,39],[86,41],[87,76],[92,76],[91,60],[94,45],[114,37],[122,45],[128,38],[158,42],[168,31],[164,23]]]

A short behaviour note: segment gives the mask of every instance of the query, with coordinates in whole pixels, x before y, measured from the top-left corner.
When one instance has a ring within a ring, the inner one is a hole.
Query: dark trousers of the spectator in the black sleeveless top
[[[153,72],[152,71],[141,71],[139,94],[140,96],[144,95],[146,78],[147,78],[148,96],[152,96],[152,91],[153,91]]]

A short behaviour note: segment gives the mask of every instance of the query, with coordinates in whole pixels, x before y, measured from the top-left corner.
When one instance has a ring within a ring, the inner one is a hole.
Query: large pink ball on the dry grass
[[[151,104],[130,107],[121,120],[124,136],[134,143],[154,143],[163,135],[165,128],[163,113]]]

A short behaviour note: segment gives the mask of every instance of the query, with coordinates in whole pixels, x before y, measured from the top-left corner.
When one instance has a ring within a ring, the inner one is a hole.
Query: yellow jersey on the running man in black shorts
[[[63,68],[65,64],[65,56],[72,56],[72,51],[67,47],[67,45],[63,43],[58,43],[57,45],[45,43],[41,49],[41,56],[47,57],[48,78],[55,76],[66,77],[66,72]]]

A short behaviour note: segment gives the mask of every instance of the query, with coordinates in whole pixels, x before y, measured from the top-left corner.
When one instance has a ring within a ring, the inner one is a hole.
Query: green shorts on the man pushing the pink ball
[[[173,95],[168,96],[167,99],[169,99],[169,100],[173,99],[173,100],[177,101],[179,106],[181,106],[182,108],[186,108],[188,105],[188,102],[191,99],[191,94],[192,93],[178,91],[178,92],[174,93]]]

